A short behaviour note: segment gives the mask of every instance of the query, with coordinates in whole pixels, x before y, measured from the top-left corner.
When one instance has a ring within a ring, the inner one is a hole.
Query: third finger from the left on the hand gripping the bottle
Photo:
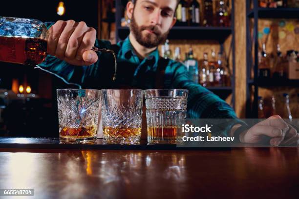
[[[77,50],[81,45],[83,36],[87,30],[88,27],[86,26],[86,23],[84,21],[78,23],[76,29],[74,30],[74,32],[68,40],[67,47],[64,53],[66,58],[75,59]],[[77,60],[82,60],[82,57],[79,57],[79,59]]]

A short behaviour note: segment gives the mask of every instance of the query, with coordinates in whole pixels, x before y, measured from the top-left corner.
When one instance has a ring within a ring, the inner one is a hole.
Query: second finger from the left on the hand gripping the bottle
[[[75,24],[76,22],[74,20],[68,20],[57,42],[55,56],[61,60],[64,59],[66,46],[69,38],[71,37],[72,33],[75,30]]]

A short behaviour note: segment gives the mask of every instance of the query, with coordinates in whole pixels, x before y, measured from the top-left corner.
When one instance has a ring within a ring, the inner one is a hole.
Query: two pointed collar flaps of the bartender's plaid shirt
[[[125,55],[125,57],[127,56],[136,56],[135,52],[134,52],[134,48],[131,44],[131,41],[129,40],[129,37],[127,37],[122,45],[122,51]],[[145,58],[146,60],[152,61],[154,66],[157,66],[158,64],[158,60],[159,60],[159,51],[158,48],[156,48],[156,50],[152,51],[148,57]]]

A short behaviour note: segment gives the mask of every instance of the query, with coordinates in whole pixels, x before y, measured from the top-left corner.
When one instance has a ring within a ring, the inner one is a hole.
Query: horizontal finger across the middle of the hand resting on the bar
[[[283,132],[280,128],[274,126],[265,126],[256,124],[249,129],[253,135],[256,136],[269,136],[271,138],[283,136]]]

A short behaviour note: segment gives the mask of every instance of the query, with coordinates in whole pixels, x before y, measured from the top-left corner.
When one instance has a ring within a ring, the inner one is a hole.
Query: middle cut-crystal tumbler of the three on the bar
[[[143,90],[101,90],[105,143],[137,144],[141,137]]]

